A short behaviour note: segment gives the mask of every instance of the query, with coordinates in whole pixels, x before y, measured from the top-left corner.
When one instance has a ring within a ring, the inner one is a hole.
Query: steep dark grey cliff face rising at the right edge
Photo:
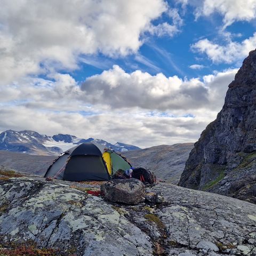
[[[179,182],[182,187],[215,188],[215,192],[228,195],[234,182],[249,175],[255,178],[256,51],[250,52],[228,87],[217,119],[206,127],[191,150]],[[220,186],[223,178],[226,188]]]

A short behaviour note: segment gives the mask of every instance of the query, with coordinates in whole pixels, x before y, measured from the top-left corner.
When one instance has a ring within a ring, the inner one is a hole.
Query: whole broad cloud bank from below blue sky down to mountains
[[[88,78],[82,90],[68,74],[26,78],[0,90],[0,131],[71,133],[141,147],[193,142],[215,119],[236,71],[200,81],[115,66]]]

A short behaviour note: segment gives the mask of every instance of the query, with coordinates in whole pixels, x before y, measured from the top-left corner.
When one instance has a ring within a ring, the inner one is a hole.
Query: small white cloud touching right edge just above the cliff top
[[[229,41],[226,45],[219,45],[209,41],[209,39],[202,39],[191,45],[193,51],[205,53],[215,63],[232,63],[243,60],[255,48],[256,33],[241,43]]]

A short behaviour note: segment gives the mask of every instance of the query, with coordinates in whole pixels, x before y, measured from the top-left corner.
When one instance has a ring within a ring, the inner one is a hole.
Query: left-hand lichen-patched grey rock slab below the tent
[[[20,194],[20,192],[22,193]],[[152,255],[150,237],[100,197],[37,179],[0,181],[0,235],[4,241],[78,255]]]

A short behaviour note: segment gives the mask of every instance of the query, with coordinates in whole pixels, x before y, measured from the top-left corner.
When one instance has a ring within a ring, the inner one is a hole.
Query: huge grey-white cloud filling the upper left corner
[[[168,10],[163,0],[1,0],[1,6],[2,83],[53,67],[75,69],[81,54],[137,52],[151,21]]]

